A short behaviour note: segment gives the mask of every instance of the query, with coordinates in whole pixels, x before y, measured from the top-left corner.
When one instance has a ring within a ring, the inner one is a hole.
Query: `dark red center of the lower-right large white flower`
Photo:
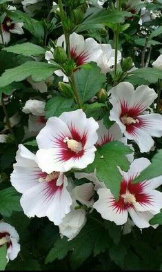
[[[111,199],[111,206],[119,213],[132,208],[136,202],[143,206],[152,203],[152,197],[146,193],[143,193],[146,182],[139,182],[132,184],[132,179],[129,182],[123,180],[121,182],[121,190],[119,200],[116,202],[114,197]]]

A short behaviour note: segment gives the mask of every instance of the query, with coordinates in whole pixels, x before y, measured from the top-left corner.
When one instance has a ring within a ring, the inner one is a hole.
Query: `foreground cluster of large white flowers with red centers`
[[[130,83],[123,82],[110,93],[110,119],[116,123],[109,130],[103,126],[103,121],[98,123],[92,117],[86,118],[83,110],[74,110],[59,118],[48,119],[37,136],[39,150],[36,155],[23,145],[17,152],[11,182],[23,194],[21,206],[24,213],[28,217],[48,216],[59,226],[61,235],[69,239],[75,237],[86,222],[85,210],[75,210],[77,200],[88,208],[96,208],[103,218],[116,224],[125,224],[129,213],[139,228],[150,226],[150,218],[162,207],[162,195],[154,190],[162,184],[162,177],[132,183],[150,164],[145,158],[132,162],[133,158],[129,157],[132,164],[128,173],[121,171],[118,201],[95,173],[75,173],[77,178],[90,180],[81,186],[74,186],[66,177],[66,172],[71,169],[83,169],[92,163],[95,150],[105,143],[118,139],[127,144],[127,139],[131,139],[142,153],[152,148],[152,137],[161,137],[162,116],[147,112],[156,99],[153,89],[139,86],[134,90]],[[97,202],[93,200],[95,191],[99,194]]]

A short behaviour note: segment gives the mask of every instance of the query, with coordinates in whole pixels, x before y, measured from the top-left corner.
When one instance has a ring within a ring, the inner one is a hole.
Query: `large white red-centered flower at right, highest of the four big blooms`
[[[154,146],[152,137],[162,135],[162,116],[146,112],[157,97],[155,91],[144,85],[134,90],[132,84],[121,82],[110,93],[110,120],[119,124],[126,138],[138,144],[141,153],[148,152]]]

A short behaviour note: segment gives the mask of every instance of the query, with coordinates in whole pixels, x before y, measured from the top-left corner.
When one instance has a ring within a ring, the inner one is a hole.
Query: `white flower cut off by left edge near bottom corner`
[[[10,224],[0,222],[0,248],[6,244],[7,260],[14,260],[20,251],[19,234]]]

